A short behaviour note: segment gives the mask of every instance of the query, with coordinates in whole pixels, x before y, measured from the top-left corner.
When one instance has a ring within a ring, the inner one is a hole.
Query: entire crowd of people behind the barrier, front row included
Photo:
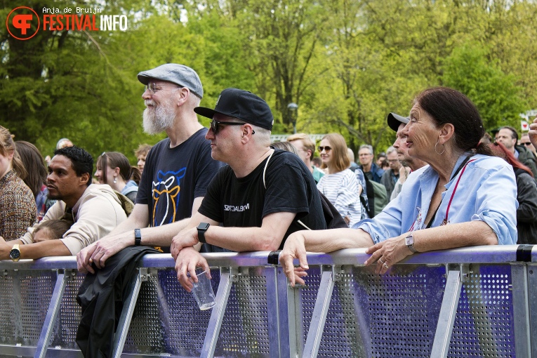
[[[214,109],[200,107],[201,80],[185,65],[140,72],[138,81],[143,128],[166,138],[135,149],[135,166],[121,152],[94,161],[67,138],[44,159],[0,126],[0,260],[77,256],[91,281],[83,312],[105,265],[150,252],[171,253],[190,291],[207,252],[281,249],[294,284],[306,275],[306,251],[366,248],[365,264],[384,274],[416,252],[537,244],[537,135],[519,139],[503,126],[493,139],[451,88],[427,88],[409,117],[387,114],[395,141],[376,157],[360,145],[356,162],[339,133],[271,143],[272,112],[251,92],[226,88]],[[100,329],[77,338],[84,354],[106,345]]]

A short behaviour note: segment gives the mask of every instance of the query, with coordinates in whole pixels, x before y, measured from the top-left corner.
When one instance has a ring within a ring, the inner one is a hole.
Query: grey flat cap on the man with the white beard
[[[150,79],[160,79],[181,87],[190,89],[190,92],[199,98],[204,98],[204,88],[201,86],[201,80],[194,69],[185,65],[176,63],[166,63],[154,69],[148,69],[138,74],[138,81],[142,84],[148,84]]]

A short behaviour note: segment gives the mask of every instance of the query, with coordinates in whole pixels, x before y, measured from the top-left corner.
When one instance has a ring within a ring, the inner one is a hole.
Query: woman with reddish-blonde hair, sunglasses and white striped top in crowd
[[[338,133],[325,135],[319,145],[319,154],[326,175],[319,180],[317,189],[336,207],[347,225],[352,226],[362,217],[362,185],[349,169],[345,138]]]

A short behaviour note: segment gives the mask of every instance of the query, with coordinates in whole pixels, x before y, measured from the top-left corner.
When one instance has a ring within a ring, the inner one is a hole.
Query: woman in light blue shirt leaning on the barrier
[[[409,155],[429,166],[409,175],[397,199],[352,229],[300,231],[280,255],[291,284],[303,284],[306,251],[367,248],[383,274],[415,252],[474,245],[516,244],[517,183],[512,166],[480,142],[475,105],[451,88],[428,88],[413,102],[403,129]],[[293,258],[300,260],[294,270]]]

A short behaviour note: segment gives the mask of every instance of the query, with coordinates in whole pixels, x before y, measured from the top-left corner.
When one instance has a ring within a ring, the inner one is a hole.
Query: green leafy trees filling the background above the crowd
[[[95,6],[58,0],[55,8]],[[466,93],[488,128],[537,107],[535,1],[206,0],[100,1],[128,16],[126,32],[40,31],[28,41],[0,29],[1,124],[51,154],[62,137],[134,163],[142,133],[138,72],[188,65],[212,107],[224,88],[265,98],[273,133],[341,133],[356,150],[395,139],[389,112],[408,114],[428,86]],[[0,20],[21,4],[4,1]],[[43,4],[25,4],[41,13]],[[287,105],[298,104],[297,117]],[[200,118],[205,126],[208,119]]]

